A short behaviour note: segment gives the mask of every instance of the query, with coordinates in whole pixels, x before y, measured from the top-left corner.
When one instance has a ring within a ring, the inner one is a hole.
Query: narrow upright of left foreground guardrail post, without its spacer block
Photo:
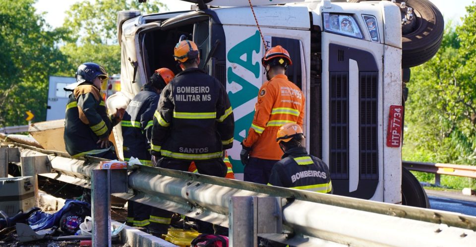
[[[92,177],[93,246],[111,246],[111,176],[94,169]]]

